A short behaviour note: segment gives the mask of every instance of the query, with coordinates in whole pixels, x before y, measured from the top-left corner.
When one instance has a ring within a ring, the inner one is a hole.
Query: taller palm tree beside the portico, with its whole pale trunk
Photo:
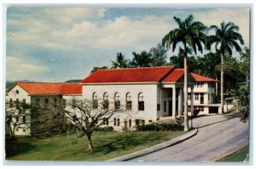
[[[202,53],[202,43],[207,40],[207,26],[199,21],[193,21],[192,14],[189,15],[184,21],[177,17],[173,17],[176,21],[178,28],[170,31],[162,39],[162,45],[166,48],[172,48],[172,52],[177,47],[177,44],[183,44],[184,54],[184,131],[189,130],[188,126],[188,72],[187,72],[187,57],[188,51],[193,48],[194,53],[199,50]],[[180,47],[181,48],[181,47]]]

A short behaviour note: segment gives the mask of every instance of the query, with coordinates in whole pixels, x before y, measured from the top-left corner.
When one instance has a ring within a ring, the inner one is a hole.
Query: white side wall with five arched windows
[[[92,100],[93,93],[96,93],[99,104],[102,103],[103,94],[108,93],[109,107],[113,109],[114,95],[119,93],[119,100],[121,109],[124,110],[121,113],[116,113],[109,120],[109,125],[114,127],[115,130],[122,130],[125,126],[125,120],[131,119],[131,126],[135,126],[136,120],[148,122],[157,120],[157,100],[158,100],[158,88],[157,84],[127,84],[127,85],[83,85],[83,98]],[[132,108],[131,110],[125,110],[126,94],[131,94]],[[138,110],[138,94],[143,93],[144,110]],[[160,103],[159,103],[160,104]],[[119,126],[113,125],[114,120],[119,119]]]

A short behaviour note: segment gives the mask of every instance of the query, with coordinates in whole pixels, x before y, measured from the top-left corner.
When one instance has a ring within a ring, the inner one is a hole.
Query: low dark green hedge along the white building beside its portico
[[[137,131],[147,132],[147,131],[180,131],[183,130],[178,124],[170,123],[151,123],[143,126],[136,126]]]

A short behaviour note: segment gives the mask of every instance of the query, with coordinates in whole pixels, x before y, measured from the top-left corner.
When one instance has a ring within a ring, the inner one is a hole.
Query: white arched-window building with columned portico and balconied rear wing
[[[96,70],[81,82],[82,96],[124,109],[125,113],[113,115],[109,126],[129,129],[183,115],[183,74],[174,66]],[[218,113],[218,104],[213,104],[215,82],[194,73],[188,76],[189,105],[194,102],[201,114]]]

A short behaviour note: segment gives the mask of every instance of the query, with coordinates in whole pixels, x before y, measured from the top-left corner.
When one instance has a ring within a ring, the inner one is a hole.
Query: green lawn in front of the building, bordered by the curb
[[[185,132],[94,132],[93,152],[87,138],[76,134],[51,138],[16,137],[6,139],[6,159],[19,161],[105,161],[145,149]]]

